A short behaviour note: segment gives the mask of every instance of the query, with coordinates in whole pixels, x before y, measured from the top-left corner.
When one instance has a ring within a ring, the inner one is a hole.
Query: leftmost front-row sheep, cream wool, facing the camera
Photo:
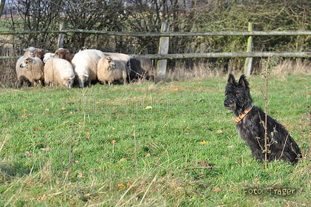
[[[17,78],[19,83],[28,80],[33,83],[33,86],[36,86],[35,81],[39,81],[40,85],[42,85],[42,80],[44,78],[43,67],[44,65],[40,58],[22,59],[17,68]]]

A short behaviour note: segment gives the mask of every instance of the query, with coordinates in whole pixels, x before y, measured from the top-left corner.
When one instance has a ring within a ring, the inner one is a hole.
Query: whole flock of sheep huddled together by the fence
[[[83,88],[100,82],[124,84],[137,78],[152,80],[153,65],[148,58],[131,58],[124,53],[106,53],[97,49],[81,48],[71,54],[67,49],[51,53],[45,49],[28,47],[16,63],[19,86],[65,85]]]

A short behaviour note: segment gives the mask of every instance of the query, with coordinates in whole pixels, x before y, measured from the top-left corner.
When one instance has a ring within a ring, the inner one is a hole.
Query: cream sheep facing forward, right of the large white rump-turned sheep
[[[97,64],[97,78],[103,84],[112,85],[113,81],[123,79],[126,84],[126,65],[119,58],[103,57]]]

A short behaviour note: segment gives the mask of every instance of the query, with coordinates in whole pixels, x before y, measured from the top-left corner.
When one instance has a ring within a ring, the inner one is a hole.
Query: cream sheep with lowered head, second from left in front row
[[[44,81],[47,85],[74,85],[74,68],[69,61],[61,58],[50,58],[44,65]]]

